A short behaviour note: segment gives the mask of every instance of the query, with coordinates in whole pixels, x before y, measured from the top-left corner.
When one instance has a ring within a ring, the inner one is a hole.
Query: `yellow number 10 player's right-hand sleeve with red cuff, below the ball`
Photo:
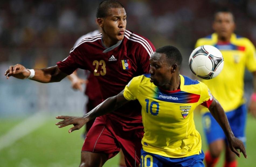
[[[206,108],[209,108],[209,106],[212,104],[213,96],[209,90],[209,88],[206,86],[206,84],[200,82],[201,87],[201,95],[200,95],[200,104],[205,106]]]

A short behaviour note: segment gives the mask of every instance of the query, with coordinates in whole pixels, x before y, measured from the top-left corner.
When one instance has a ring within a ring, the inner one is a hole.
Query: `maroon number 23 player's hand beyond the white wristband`
[[[29,75],[30,71],[20,64],[10,66],[9,69],[5,71],[5,76],[7,79],[9,79],[10,76],[18,79],[26,79],[27,77],[29,77]]]

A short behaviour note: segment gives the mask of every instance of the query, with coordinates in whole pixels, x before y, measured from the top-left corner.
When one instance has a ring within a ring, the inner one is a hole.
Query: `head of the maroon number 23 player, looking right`
[[[114,41],[123,40],[126,12],[122,3],[114,0],[102,1],[98,6],[96,16],[103,35]]]

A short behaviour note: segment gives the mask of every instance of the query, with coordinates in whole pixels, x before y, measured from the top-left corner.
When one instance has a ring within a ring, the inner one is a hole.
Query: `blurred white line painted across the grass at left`
[[[29,118],[23,120],[6,134],[0,136],[0,151],[39,128],[44,122],[46,122],[46,120],[47,117],[43,114],[43,112],[37,112]]]

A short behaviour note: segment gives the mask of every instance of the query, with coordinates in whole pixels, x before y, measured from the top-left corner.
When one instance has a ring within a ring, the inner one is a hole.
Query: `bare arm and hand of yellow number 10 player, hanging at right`
[[[219,123],[219,125],[222,127],[229,142],[229,147],[231,151],[233,151],[238,157],[240,157],[240,153],[237,151],[240,150],[240,152],[243,153],[244,157],[247,158],[243,142],[238,138],[234,137],[234,134],[230,128],[229,121],[224,112],[224,109],[214,97],[213,102],[209,107],[209,110],[213,117],[216,119],[216,121]]]

